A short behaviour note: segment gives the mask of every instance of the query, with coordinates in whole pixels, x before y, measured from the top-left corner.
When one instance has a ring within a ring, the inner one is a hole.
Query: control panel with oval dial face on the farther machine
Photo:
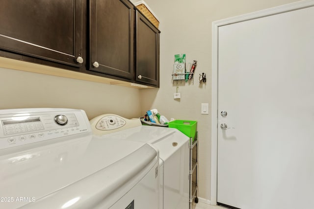
[[[102,136],[116,131],[141,126],[139,118],[127,119],[114,114],[104,114],[90,120],[90,125],[94,135]]]

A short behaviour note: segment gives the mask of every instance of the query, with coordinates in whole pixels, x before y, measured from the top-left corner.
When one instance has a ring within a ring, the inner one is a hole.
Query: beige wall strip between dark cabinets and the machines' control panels
[[[139,90],[0,68],[0,109],[75,108],[89,119],[104,113],[140,115]]]

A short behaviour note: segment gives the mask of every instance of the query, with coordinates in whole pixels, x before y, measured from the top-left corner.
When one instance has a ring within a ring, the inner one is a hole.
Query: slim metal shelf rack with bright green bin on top
[[[176,128],[190,138],[190,191],[189,203],[192,209],[193,201],[198,203],[198,132],[197,121],[194,120],[173,120],[168,123],[169,128]]]

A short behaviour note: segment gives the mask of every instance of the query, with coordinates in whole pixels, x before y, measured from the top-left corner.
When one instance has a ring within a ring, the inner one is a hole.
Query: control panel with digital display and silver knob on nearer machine
[[[90,131],[84,111],[74,109],[0,110],[0,149]]]

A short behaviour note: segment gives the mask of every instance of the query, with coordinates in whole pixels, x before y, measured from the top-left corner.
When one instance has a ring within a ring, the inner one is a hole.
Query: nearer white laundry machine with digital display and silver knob
[[[1,209],[158,209],[158,159],[93,137],[82,110],[0,110]]]

